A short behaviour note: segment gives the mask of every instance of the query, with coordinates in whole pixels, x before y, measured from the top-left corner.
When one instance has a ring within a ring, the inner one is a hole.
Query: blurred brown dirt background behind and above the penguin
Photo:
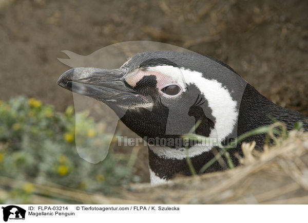
[[[0,100],[26,95],[63,111],[62,50],[164,42],[218,58],[275,103],[308,115],[307,1],[0,0]],[[141,160],[146,160],[142,153]],[[143,180],[148,180],[146,164]]]

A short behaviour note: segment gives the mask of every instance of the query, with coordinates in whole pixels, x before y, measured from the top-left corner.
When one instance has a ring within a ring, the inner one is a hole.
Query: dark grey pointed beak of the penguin
[[[124,83],[125,69],[79,67],[61,75],[57,84],[72,92],[100,101],[119,101],[136,94]]]

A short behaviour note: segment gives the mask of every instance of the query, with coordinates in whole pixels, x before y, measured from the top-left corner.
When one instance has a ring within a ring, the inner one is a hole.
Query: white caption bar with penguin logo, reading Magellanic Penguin
[[[301,222],[307,205],[2,205],[2,222]]]

